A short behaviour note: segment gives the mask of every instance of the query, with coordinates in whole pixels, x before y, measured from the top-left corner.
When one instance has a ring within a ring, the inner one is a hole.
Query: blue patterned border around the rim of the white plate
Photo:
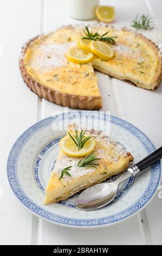
[[[34,135],[38,130],[41,130],[49,125],[52,125],[52,122],[55,121],[63,121],[65,119],[72,120],[76,117],[91,117],[95,119],[101,119],[105,121],[110,121],[115,125],[119,125],[123,127],[123,129],[128,130],[132,133],[136,138],[139,139],[141,144],[144,146],[148,154],[151,154],[155,148],[152,142],[147,138],[144,133],[142,133],[138,128],[134,125],[124,121],[120,118],[110,116],[105,113],[94,112],[94,111],[74,111],[68,113],[62,113],[58,115],[54,115],[53,117],[48,117],[39,121],[38,123],[32,125],[27,129],[22,135],[17,139],[13,148],[10,151],[8,162],[7,162],[7,175],[9,184],[11,189],[13,190],[15,196],[20,200],[20,202],[26,206],[30,211],[34,212],[34,214],[39,215],[40,217],[46,218],[48,221],[57,222],[65,225],[74,225],[79,227],[90,227],[90,226],[99,226],[99,225],[108,225],[117,221],[120,221],[126,217],[129,217],[132,214],[135,214],[138,210],[148,203],[148,201],[152,198],[153,194],[157,190],[157,187],[160,182],[161,176],[161,166],[160,161],[153,164],[151,171],[151,179],[149,181],[148,187],[142,196],[129,208],[109,217],[104,218],[95,218],[95,219],[76,219],[76,218],[66,218],[63,216],[59,216],[53,214],[52,212],[46,211],[45,209],[40,208],[39,205],[36,205],[27,195],[23,192],[17,178],[16,167],[17,167],[17,158],[20,154],[20,151],[23,145],[28,141],[30,137]]]

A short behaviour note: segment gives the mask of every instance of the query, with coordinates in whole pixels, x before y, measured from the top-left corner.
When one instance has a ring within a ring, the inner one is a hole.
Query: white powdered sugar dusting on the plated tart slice
[[[101,158],[100,163],[102,160],[105,159],[108,162],[117,163],[120,156],[127,156],[127,151],[114,139],[110,138],[109,136],[105,135],[102,131],[95,131],[93,129],[84,129],[80,128],[76,124],[70,125],[70,130],[86,130],[86,133],[92,137],[95,137],[96,143],[101,143],[103,147],[97,147],[95,149],[95,155]],[[113,149],[113,155],[108,155],[107,148]],[[57,173],[59,176],[61,175],[61,170],[65,167],[72,166],[69,173],[70,176],[64,175],[65,180],[70,180],[72,178],[78,178],[79,176],[83,176],[85,174],[94,172],[94,168],[88,167],[78,167],[78,161],[84,159],[84,157],[69,157],[66,154],[62,154],[61,157],[57,160],[57,163],[54,167],[54,173]],[[101,163],[102,164],[102,163]],[[107,167],[106,167],[107,168]]]

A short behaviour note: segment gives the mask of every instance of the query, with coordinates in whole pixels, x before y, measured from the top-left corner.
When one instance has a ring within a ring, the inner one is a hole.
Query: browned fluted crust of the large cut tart
[[[108,25],[105,25],[107,27]],[[65,26],[64,26],[65,27]],[[68,27],[68,26],[67,26]],[[129,31],[128,28],[121,28],[123,31]],[[61,93],[58,90],[51,89],[40,82],[36,81],[33,77],[31,77],[26,70],[26,67],[24,66],[23,63],[23,57],[24,54],[26,53],[29,45],[31,42],[33,42],[35,39],[39,38],[40,35],[36,36],[33,39],[30,39],[23,47],[22,47],[22,57],[19,60],[19,66],[20,66],[20,71],[21,75],[23,77],[23,81],[27,84],[27,86],[32,90],[35,94],[38,94],[40,98],[44,98],[48,101],[51,101],[53,103],[56,103],[61,106],[67,106],[70,108],[79,108],[79,109],[101,109],[102,108],[102,98],[100,95],[97,96],[81,96],[81,95],[75,95],[75,94],[68,94],[68,93]],[[151,40],[147,39],[144,35],[136,33],[136,36],[139,36],[147,42],[147,44],[155,51],[157,52],[158,55],[158,47],[152,42]],[[119,80],[122,80],[124,82],[127,82],[129,84],[133,84],[134,86],[142,87],[139,84],[135,84],[132,81],[125,80],[121,78],[120,76],[116,76],[114,74],[110,74],[110,72],[105,71],[101,67],[98,67],[97,65],[93,65],[94,69],[97,71],[100,71],[104,74],[107,74],[111,77],[115,77]],[[149,90],[155,90],[159,87],[159,84],[162,80],[162,58],[159,57],[159,65],[158,65],[158,70],[157,73],[155,74],[151,86]],[[144,88],[144,87],[142,87]]]

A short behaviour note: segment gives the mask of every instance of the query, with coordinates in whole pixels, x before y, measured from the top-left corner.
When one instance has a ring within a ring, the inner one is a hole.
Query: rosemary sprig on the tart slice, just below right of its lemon
[[[97,160],[100,160],[100,158],[96,157],[94,152],[91,152],[87,157],[85,157],[85,159],[79,160],[78,167],[85,166],[85,167],[97,168],[97,166],[99,166],[99,163],[96,162]]]

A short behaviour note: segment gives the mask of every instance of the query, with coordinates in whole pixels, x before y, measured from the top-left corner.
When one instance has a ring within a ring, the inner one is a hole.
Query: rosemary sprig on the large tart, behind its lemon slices
[[[117,36],[105,36],[109,33],[109,31],[104,33],[103,35],[99,35],[98,32],[93,34],[89,31],[88,26],[85,26],[84,33],[86,36],[84,36],[82,39],[110,42],[110,44],[116,45],[115,39],[117,38]]]

